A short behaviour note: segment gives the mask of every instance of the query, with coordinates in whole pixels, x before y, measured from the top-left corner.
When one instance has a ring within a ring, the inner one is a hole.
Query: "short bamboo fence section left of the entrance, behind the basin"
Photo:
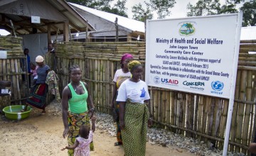
[[[21,60],[26,60],[26,56],[23,55],[21,43],[22,38],[0,36],[0,50],[7,51],[7,59],[0,59],[0,81],[11,82],[11,99],[1,96],[1,106],[11,104],[4,104],[3,99],[20,104],[20,100],[27,96],[27,87],[22,81],[27,72],[21,70]]]

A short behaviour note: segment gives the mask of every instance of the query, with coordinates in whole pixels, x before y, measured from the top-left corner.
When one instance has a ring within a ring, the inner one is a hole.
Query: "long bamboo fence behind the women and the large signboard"
[[[119,60],[125,52],[134,55],[144,65],[144,42],[120,43],[56,43],[60,91],[70,82],[68,67],[78,64],[82,80],[90,87],[97,111],[111,113],[114,72],[120,68]],[[230,130],[229,151],[247,154],[247,147],[255,134],[255,40],[240,43],[238,76]],[[157,87],[149,87],[151,114],[159,123],[181,135],[210,142],[223,149],[228,99],[191,94]]]

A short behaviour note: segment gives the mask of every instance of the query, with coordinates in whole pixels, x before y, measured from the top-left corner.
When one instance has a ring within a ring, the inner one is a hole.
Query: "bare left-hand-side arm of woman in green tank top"
[[[64,125],[64,131],[63,131],[63,138],[65,138],[66,135],[68,135],[68,94],[70,90],[68,89],[68,86],[66,86],[63,89],[62,94],[62,116],[63,116],[63,125]]]

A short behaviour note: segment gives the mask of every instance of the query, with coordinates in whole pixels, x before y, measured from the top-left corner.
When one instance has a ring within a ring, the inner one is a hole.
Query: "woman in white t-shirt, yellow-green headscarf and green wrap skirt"
[[[133,60],[128,68],[132,77],[121,84],[117,95],[124,155],[145,155],[146,126],[151,126],[150,96],[146,82],[141,80],[142,64]]]

